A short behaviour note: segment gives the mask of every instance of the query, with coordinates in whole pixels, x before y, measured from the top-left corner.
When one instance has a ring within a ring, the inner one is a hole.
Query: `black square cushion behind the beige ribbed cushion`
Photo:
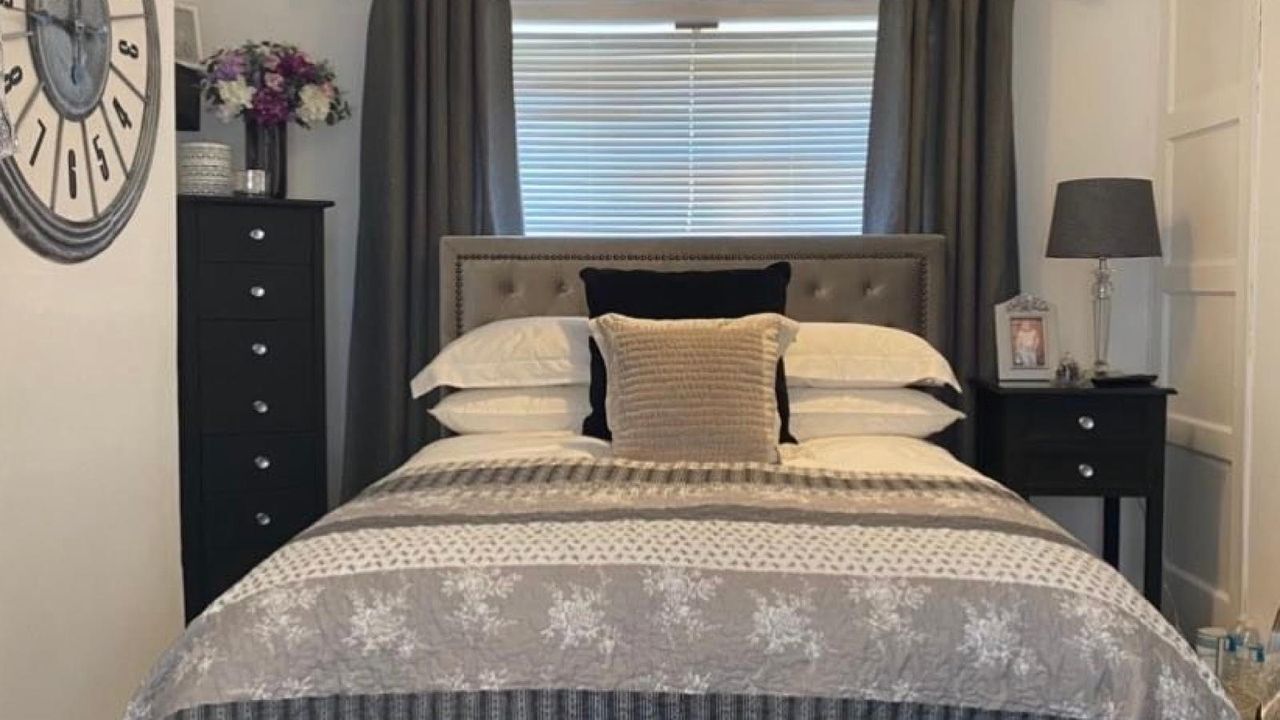
[[[733,270],[689,270],[663,273],[657,270],[614,270],[585,268],[579,277],[586,290],[588,315],[598,318],[618,313],[648,320],[685,320],[695,318],[744,318],[756,313],[787,310],[787,284],[791,264],[774,263],[767,268]],[[612,439],[604,410],[608,375],[604,357],[590,341],[591,350],[591,414],[582,423],[582,434]],[[791,404],[787,400],[787,374],[778,360],[774,383],[778,418],[782,420],[778,442],[795,442],[791,436]]]

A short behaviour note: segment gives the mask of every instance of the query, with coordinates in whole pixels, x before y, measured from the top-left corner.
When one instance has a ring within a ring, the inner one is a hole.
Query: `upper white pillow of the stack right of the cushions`
[[[790,387],[960,389],[951,365],[927,340],[881,325],[801,323],[785,360]]]

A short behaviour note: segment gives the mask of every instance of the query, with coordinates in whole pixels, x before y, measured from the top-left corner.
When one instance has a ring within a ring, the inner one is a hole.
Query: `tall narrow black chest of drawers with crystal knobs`
[[[320,201],[178,200],[187,619],[326,507]]]

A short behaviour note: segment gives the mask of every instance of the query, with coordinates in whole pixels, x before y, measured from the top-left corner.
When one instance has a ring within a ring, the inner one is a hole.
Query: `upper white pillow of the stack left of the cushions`
[[[545,387],[591,382],[586,318],[515,318],[447,345],[410,387],[413,397],[448,386]]]

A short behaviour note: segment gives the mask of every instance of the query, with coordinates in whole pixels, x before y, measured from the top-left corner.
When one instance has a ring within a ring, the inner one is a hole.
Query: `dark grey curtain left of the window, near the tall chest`
[[[440,237],[522,232],[509,0],[374,0],[362,114],[343,500],[438,432]]]

